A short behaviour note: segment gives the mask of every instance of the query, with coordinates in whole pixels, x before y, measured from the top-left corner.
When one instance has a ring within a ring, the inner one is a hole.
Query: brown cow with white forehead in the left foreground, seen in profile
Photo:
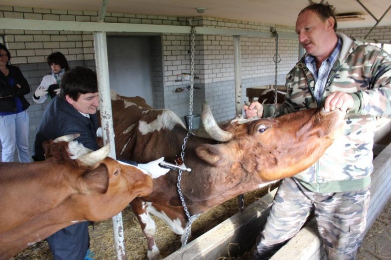
[[[143,170],[106,157],[109,145],[92,152],[68,143],[77,136],[45,143],[44,162],[0,163],[1,260],[73,223],[110,218],[152,191]]]

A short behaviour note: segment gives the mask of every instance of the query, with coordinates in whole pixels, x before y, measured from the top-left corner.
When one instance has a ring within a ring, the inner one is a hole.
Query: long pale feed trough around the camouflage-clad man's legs
[[[371,203],[367,230],[391,197],[391,120],[380,119],[375,134]],[[164,260],[217,260],[241,256],[255,245],[277,189],[223,221]],[[316,223],[309,221],[271,260],[318,260],[324,252]]]

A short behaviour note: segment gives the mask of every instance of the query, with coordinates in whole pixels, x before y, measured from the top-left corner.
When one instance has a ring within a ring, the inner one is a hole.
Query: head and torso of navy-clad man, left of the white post
[[[98,150],[98,81],[94,71],[76,67],[64,74],[61,91],[49,103],[35,138],[34,161],[44,161],[42,143],[59,136],[80,133],[76,139],[91,150]]]

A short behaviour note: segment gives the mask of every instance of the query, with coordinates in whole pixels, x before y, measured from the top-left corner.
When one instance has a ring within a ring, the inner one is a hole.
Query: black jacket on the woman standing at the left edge
[[[30,86],[18,67],[10,65],[7,65],[7,67],[9,70],[8,76],[0,72],[0,112],[16,112],[14,97],[20,98],[23,110],[26,110],[30,103],[24,95],[30,93]],[[10,77],[14,81],[12,86],[8,84],[8,78]],[[19,84],[21,88],[16,87],[16,84]]]

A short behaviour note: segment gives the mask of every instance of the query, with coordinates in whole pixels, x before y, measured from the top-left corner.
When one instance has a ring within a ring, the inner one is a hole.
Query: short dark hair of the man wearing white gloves
[[[81,94],[98,92],[97,74],[85,67],[77,66],[68,70],[61,79],[60,93],[61,98],[68,95],[77,101]]]

